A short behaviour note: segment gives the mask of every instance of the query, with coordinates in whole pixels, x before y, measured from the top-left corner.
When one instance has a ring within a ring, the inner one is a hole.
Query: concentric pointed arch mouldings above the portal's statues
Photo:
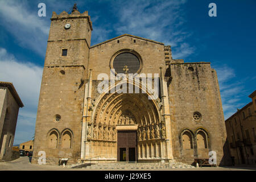
[[[134,88],[135,86],[139,85],[139,89],[142,90],[144,93],[133,93],[133,94],[128,94],[128,93],[117,93],[117,90],[115,90],[115,93],[102,93],[100,97],[95,101],[96,104],[96,110],[93,110],[92,113],[92,123],[104,123],[108,122],[106,121],[107,118],[110,118],[110,122],[112,124],[115,124],[113,120],[113,115],[116,116],[117,114],[120,114],[120,110],[129,107],[130,106],[130,111],[133,110],[133,112],[138,113],[141,111],[141,113],[144,114],[144,119],[147,119],[147,121],[160,121],[161,119],[161,114],[159,113],[160,110],[160,104],[159,104],[159,99],[155,100],[148,100],[148,97],[154,97],[152,96],[152,93],[149,93],[146,88],[142,84],[136,84],[130,83],[127,81],[129,84],[133,84]],[[118,84],[123,84],[122,81],[118,81],[115,84],[112,84],[109,86],[108,91],[113,89],[114,86],[117,86]],[[131,103],[129,105],[130,102]],[[131,107],[133,106],[133,107]],[[137,109],[134,109],[137,107]],[[137,111],[136,111],[137,110]],[[119,115],[118,115],[119,116]],[[104,117],[104,118],[103,118]],[[143,118],[143,117],[142,117]],[[142,118],[138,118],[137,121],[141,121]],[[150,122],[150,123],[151,123]]]

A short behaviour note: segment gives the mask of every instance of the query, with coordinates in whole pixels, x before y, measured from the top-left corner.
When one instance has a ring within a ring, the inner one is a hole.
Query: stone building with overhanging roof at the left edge
[[[23,107],[18,93],[11,82],[0,81],[0,160],[14,157],[13,141],[19,107]]]

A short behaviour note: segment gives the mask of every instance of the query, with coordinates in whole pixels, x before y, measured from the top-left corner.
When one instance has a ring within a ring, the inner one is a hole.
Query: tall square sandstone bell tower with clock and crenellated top
[[[75,7],[75,6],[74,6]],[[52,14],[36,117],[34,155],[46,163],[80,158],[81,121],[92,22],[88,11]]]

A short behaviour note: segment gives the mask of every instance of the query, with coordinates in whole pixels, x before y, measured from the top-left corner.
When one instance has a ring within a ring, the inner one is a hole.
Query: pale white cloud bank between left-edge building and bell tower
[[[13,82],[24,104],[19,110],[15,144],[33,137],[42,72],[42,67],[29,62],[18,62],[14,55],[0,48],[0,80]]]

